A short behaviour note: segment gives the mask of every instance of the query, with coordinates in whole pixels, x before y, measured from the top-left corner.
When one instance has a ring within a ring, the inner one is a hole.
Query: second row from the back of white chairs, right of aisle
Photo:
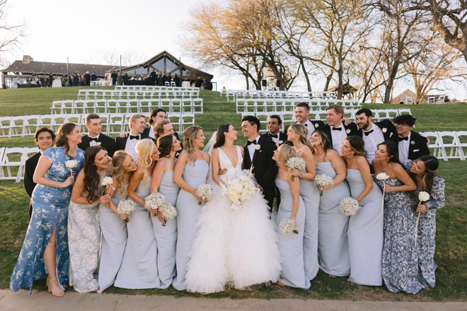
[[[306,102],[310,110],[323,111],[329,105],[341,105],[345,109],[359,109],[362,105],[353,100],[236,100],[236,112],[291,112],[299,102]]]

